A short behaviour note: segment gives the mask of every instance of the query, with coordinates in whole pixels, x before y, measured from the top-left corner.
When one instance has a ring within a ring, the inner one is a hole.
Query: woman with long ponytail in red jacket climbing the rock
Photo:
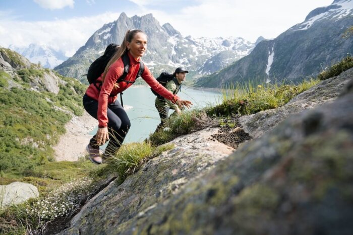
[[[108,158],[119,150],[129,131],[130,119],[116,98],[117,94],[128,89],[136,80],[140,70],[140,57],[144,55],[146,49],[147,35],[141,30],[128,30],[122,45],[109,60],[102,75],[87,88],[83,96],[85,110],[98,120],[97,133],[87,145],[89,158],[95,164],[102,163],[102,157],[99,154],[100,145],[109,139],[103,154],[103,158]],[[117,83],[117,79],[124,73],[124,54],[127,54],[130,59],[129,71],[124,81]],[[190,108],[192,105],[190,101],[181,100],[158,83],[146,65],[141,77],[159,95],[179,107]]]

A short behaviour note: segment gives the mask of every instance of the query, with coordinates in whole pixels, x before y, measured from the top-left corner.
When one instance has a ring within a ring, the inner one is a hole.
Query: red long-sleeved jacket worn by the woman
[[[135,77],[140,69],[140,59],[136,60],[130,53],[130,65],[129,72],[125,77],[126,81],[135,81]],[[132,84],[127,84],[126,82],[120,82],[119,88],[114,87],[117,79],[123,75],[124,73],[124,63],[122,58],[116,60],[110,67],[105,76],[104,82],[101,86],[100,92],[92,83],[86,91],[87,96],[98,101],[98,127],[106,127],[108,123],[107,118],[107,107],[108,104],[115,102],[117,98],[117,94],[128,89]],[[179,100],[179,97],[173,95],[170,91],[165,89],[157,80],[153,77],[152,73],[145,65],[145,69],[141,75],[142,79],[145,80],[148,85],[155,90],[158,94],[160,94],[165,99],[172,101],[173,103]],[[103,78],[103,74],[97,79],[97,81],[101,82]]]

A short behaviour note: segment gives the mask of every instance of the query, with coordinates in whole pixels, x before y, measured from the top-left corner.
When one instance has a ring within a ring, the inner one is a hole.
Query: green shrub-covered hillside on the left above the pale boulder
[[[1,50],[24,66],[16,52]],[[47,92],[42,85],[45,73],[50,70],[36,64],[14,73],[0,70],[0,185],[23,181],[45,192],[94,168],[85,161],[54,162],[52,146],[65,133],[65,124],[84,112],[86,86],[56,73],[62,80],[60,91]]]

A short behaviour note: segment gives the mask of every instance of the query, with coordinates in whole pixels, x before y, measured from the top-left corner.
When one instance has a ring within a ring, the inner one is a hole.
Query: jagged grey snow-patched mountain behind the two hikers
[[[104,52],[108,44],[121,43],[129,29],[146,32],[148,50],[143,61],[155,75],[178,66],[188,68],[196,77],[210,74],[249,54],[254,48],[253,43],[240,37],[183,37],[168,23],[160,26],[152,14],[129,18],[122,13],[116,21],[98,29],[74,56],[56,66],[55,70],[85,81],[81,76],[86,74],[91,62]]]

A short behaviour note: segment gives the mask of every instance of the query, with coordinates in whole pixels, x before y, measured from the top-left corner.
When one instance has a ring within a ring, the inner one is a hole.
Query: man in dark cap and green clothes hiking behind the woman
[[[168,91],[172,92],[173,95],[176,95],[180,91],[181,85],[185,81],[186,73],[188,72],[188,70],[182,67],[178,67],[177,69],[175,69],[175,72],[172,74],[173,78],[169,82],[167,82],[165,88]],[[160,124],[157,126],[156,131],[162,128],[165,121],[168,119],[169,109],[175,110],[175,112],[171,116],[180,115],[182,113],[178,105],[173,104],[169,100],[164,99],[162,96],[159,95],[156,98],[155,106],[157,108],[161,121]]]

